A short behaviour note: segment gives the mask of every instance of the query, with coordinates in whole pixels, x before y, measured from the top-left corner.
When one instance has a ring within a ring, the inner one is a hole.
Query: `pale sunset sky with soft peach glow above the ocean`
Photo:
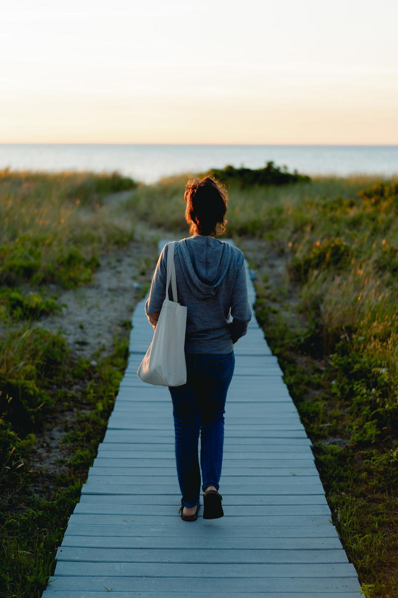
[[[0,142],[398,144],[396,0],[3,0]]]

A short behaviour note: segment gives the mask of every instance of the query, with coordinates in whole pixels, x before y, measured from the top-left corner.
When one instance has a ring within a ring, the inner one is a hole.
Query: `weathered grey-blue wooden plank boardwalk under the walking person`
[[[249,276],[248,289],[253,304]],[[311,442],[254,317],[235,345],[227,396],[225,516],[203,520],[202,507],[197,521],[181,520],[171,399],[136,376],[152,338],[144,303],[44,598],[359,598]]]

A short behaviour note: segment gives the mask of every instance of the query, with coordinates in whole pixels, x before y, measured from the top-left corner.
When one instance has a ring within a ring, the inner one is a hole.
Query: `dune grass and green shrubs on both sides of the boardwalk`
[[[98,352],[92,365],[35,320],[60,311],[54,288],[91,280],[99,255],[149,230],[187,236],[188,176],[138,185],[117,173],[0,173],[2,596],[41,595],[128,355],[128,327],[112,354]],[[398,179],[297,175],[242,184],[233,173],[225,180],[227,236],[249,261],[255,313],[313,442],[333,522],[363,593],[393,598]],[[76,382],[79,393],[71,390]],[[67,473],[46,478],[42,492],[30,455],[55,413],[59,422],[71,410],[78,416],[73,429],[64,420],[60,457]]]

